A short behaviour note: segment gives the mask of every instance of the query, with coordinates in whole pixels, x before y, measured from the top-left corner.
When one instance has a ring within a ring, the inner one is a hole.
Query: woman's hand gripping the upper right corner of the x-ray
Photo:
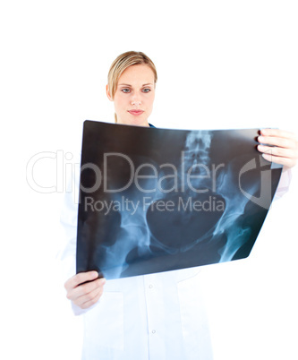
[[[298,141],[294,133],[279,129],[262,129],[258,141],[258,150],[264,159],[294,167],[298,160]]]

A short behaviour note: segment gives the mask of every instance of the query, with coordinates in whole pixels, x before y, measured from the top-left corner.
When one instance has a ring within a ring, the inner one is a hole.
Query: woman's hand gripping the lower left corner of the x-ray
[[[87,283],[85,283],[88,281]],[[84,284],[85,283],[85,284]],[[98,279],[97,271],[80,272],[68,279],[64,287],[66,297],[72,300],[72,303],[87,309],[89,306],[98,302],[104,291],[106,279]]]

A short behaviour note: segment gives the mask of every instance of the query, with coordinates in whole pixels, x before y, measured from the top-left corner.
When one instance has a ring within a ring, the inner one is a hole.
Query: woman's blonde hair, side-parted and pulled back
[[[154,73],[154,83],[155,84],[157,83],[158,73],[155,64],[153,64],[152,60],[140,51],[127,51],[126,53],[123,53],[117,56],[117,58],[115,58],[107,74],[107,86],[112,99],[114,99],[118,81],[123,71],[126,70],[129,66],[138,65],[138,64],[148,65],[149,68]],[[116,122],[117,122],[117,116],[115,114],[115,123]]]

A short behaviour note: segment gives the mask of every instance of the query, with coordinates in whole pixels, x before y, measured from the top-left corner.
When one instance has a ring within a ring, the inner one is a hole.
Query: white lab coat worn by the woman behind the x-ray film
[[[290,183],[286,172],[277,197]],[[74,190],[78,192],[79,176]],[[72,184],[73,186],[73,184]],[[75,274],[77,194],[66,193],[61,221],[65,280]],[[108,280],[97,304],[73,312],[84,317],[83,360],[211,360],[201,268]]]

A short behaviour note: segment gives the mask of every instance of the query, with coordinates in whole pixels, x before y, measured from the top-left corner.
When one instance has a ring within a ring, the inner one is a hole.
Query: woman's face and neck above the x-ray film
[[[112,100],[106,86],[108,99]],[[115,90],[114,106],[117,123],[149,126],[155,98],[154,73],[148,65],[132,65],[125,69]]]

